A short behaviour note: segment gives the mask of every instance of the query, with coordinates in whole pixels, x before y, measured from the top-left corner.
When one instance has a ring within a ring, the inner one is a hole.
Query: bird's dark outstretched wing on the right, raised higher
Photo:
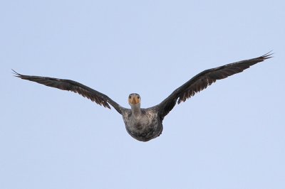
[[[216,82],[216,80],[222,80],[230,75],[242,72],[252,65],[271,58],[270,55],[272,54],[269,52],[258,58],[242,60],[237,63],[223,65],[218,68],[204,70],[203,72],[195,75],[195,77],[192,77],[191,80],[185,82],[184,85],[177,88],[177,90],[172,92],[169,97],[163,100],[155,108],[158,109],[160,117],[163,119],[172,110],[172,108],[175,107],[176,102],[178,102],[178,104],[180,104],[180,102],[185,102],[186,99],[194,96],[197,92],[206,89],[209,85],[212,85],[213,82]]]

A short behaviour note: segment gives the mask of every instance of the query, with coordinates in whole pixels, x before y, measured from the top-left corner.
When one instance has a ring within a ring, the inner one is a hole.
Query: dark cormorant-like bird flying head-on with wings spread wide
[[[128,134],[138,141],[146,142],[151,139],[155,139],[157,136],[162,134],[162,121],[173,107],[175,107],[175,104],[185,102],[187,99],[190,99],[190,97],[197,94],[197,92],[200,92],[206,89],[209,85],[212,85],[216,80],[222,80],[231,75],[243,72],[252,65],[263,62],[268,58],[272,58],[272,54],[273,53],[270,51],[269,53],[257,58],[241,60],[199,72],[197,75],[174,90],[167,98],[160,102],[160,104],[149,108],[140,107],[141,97],[137,93],[131,93],[128,96],[128,104],[130,104],[130,108],[125,108],[113,101],[113,99],[107,95],[73,80],[21,75],[13,69],[12,71],[14,72],[15,77],[19,77],[23,80],[38,82],[39,84],[46,85],[48,87],[55,87],[60,90],[76,92],[79,95],[90,99],[92,102],[108,109],[112,106],[119,114],[122,115],[125,123],[125,129],[128,131]]]

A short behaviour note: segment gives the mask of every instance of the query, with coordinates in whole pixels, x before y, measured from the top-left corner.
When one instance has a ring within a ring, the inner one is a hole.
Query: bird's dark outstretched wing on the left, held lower
[[[13,70],[14,71],[14,70]],[[86,85],[82,85],[79,82],[75,82],[73,80],[63,80],[57,79],[53,77],[41,77],[41,76],[31,76],[31,75],[21,75],[18,72],[14,71],[16,77],[19,77],[23,80],[30,80],[32,82],[38,82],[42,85],[46,85],[48,87],[55,87],[60,90],[68,90],[72,92],[76,92],[83,97],[90,99],[92,102],[96,102],[99,105],[103,105],[103,107],[108,107],[110,109],[110,105],[112,105],[120,114],[123,107],[120,107],[119,104],[114,102],[110,97],[100,93],[96,90],[87,87]]]

